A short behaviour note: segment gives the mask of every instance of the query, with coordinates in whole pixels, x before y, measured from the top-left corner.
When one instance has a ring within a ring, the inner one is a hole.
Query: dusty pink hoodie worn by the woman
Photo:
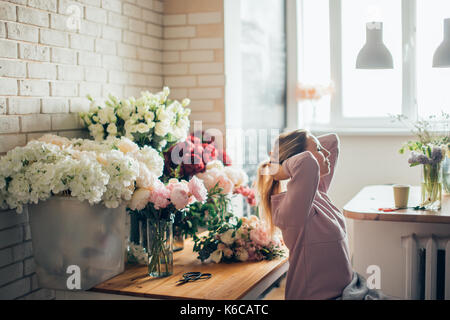
[[[330,174],[305,151],[283,162],[287,191],[271,197],[273,221],[289,249],[286,299],[333,299],[353,276],[344,216],[327,195],[339,154],[336,134],[318,137],[330,152]]]

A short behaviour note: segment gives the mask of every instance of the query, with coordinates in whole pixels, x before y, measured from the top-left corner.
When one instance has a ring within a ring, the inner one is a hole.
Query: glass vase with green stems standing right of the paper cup
[[[421,189],[421,206],[425,210],[440,210],[442,202],[441,163],[423,165]]]

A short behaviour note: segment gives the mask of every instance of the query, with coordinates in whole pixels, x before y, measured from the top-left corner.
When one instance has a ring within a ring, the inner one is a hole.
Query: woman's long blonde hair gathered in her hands
[[[275,141],[275,152],[278,153],[278,162],[281,165],[286,159],[305,151],[308,131],[303,129],[286,132],[278,136]],[[280,181],[273,178],[268,173],[269,160],[262,162],[258,166],[257,177],[255,181],[258,193],[258,210],[260,217],[266,221],[269,226],[270,233],[273,234],[276,227],[272,220],[271,196],[280,192]]]

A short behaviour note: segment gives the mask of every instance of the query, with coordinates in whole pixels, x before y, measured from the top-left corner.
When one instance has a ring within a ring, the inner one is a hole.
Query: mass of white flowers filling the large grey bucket
[[[163,165],[156,150],[124,137],[94,142],[45,135],[0,159],[0,207],[20,213],[23,205],[70,194],[117,208],[136,186],[151,188]]]

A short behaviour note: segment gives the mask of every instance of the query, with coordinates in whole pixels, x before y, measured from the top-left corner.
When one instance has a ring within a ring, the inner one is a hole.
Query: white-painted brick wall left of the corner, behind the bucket
[[[162,20],[156,0],[0,0],[0,156],[46,132],[85,135],[88,93],[161,90]],[[32,255],[28,212],[0,211],[0,299],[54,297]]]

